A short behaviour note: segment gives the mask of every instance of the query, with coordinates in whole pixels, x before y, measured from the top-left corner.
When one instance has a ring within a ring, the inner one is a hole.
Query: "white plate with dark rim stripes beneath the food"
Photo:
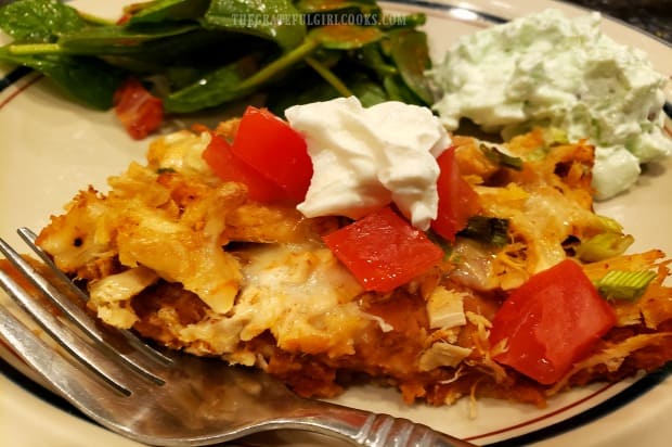
[[[114,17],[128,0],[72,3]],[[400,12],[427,13],[426,30],[435,60],[442,58],[456,36],[489,26],[474,21],[474,11],[501,18],[548,7],[568,15],[584,13],[548,1],[455,2],[463,9],[437,1],[402,3],[386,5]],[[618,41],[645,50],[661,73],[672,74],[672,49],[667,44],[611,21],[605,21],[604,30]],[[0,67],[0,76],[7,72],[8,67]],[[146,144],[131,141],[111,113],[82,108],[60,97],[43,79],[23,77],[0,91],[0,234],[18,244],[15,228],[41,228],[49,215],[60,213],[61,206],[89,183],[104,189],[108,175],[125,170],[131,159],[143,159]],[[597,206],[599,213],[617,218],[636,237],[635,251],[659,247],[672,254],[672,235],[661,231],[672,221],[668,197],[672,192],[671,169],[670,159],[654,165],[633,191]],[[15,361],[7,352],[0,350],[0,357]],[[477,403],[475,419],[468,416],[468,399],[453,407],[409,407],[396,392],[377,387],[352,389],[338,401],[421,421],[477,444],[513,439],[507,445],[667,446],[672,438],[672,424],[668,422],[672,378],[667,372],[566,393],[545,409],[482,399]],[[135,445],[55,408],[4,374],[0,375],[0,438],[18,446],[89,446],[91,439],[101,447]],[[318,443],[286,433],[256,436],[254,440],[273,445]]]

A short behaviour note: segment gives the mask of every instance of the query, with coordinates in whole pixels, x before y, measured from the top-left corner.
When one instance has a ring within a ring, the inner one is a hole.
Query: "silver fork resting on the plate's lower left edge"
[[[1,239],[0,252],[39,293],[2,269],[0,285],[57,345],[36,336],[4,305],[0,337],[49,386],[113,432],[156,446],[211,445],[277,429],[370,447],[473,446],[406,419],[305,399],[262,372],[159,352],[128,331],[98,324],[82,310],[86,294],[35,244],[35,234],[26,228],[18,234],[39,263]]]

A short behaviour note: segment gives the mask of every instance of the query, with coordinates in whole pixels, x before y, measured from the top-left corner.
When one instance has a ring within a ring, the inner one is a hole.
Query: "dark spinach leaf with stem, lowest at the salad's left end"
[[[12,55],[5,47],[0,48],[0,61],[37,69],[70,97],[99,110],[112,107],[114,92],[126,78],[122,71],[92,58]]]

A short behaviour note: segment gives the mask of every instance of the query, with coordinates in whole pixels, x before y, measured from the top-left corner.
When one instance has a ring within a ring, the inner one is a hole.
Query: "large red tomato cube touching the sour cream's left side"
[[[233,140],[233,153],[300,202],[312,178],[306,141],[264,108],[247,107]]]

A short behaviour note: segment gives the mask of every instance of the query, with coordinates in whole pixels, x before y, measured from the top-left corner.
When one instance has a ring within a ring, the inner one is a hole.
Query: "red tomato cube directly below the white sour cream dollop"
[[[367,291],[390,292],[437,265],[443,251],[389,206],[323,238]]]

